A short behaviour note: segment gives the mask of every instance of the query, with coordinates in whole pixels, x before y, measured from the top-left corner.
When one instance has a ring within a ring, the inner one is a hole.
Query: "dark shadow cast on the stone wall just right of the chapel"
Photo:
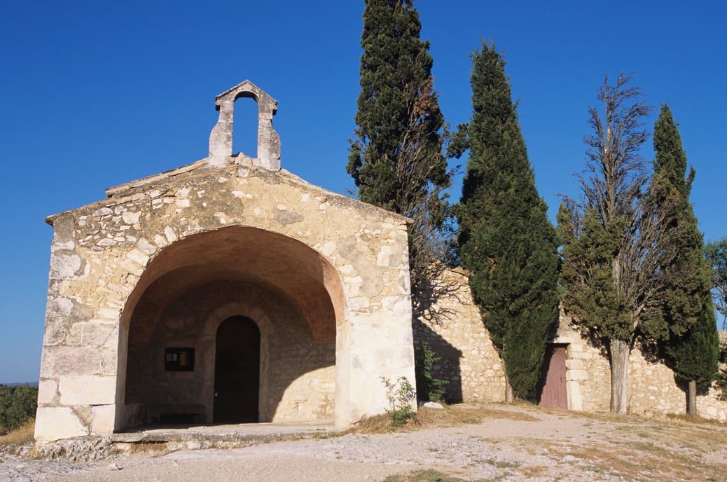
[[[418,318],[414,320],[412,328],[414,330],[414,347],[417,348],[424,343],[429,350],[435,353],[435,356],[440,358],[434,363],[431,375],[434,378],[446,380],[447,384],[443,387],[445,401],[462,403],[462,369],[459,364],[462,351],[444,340],[440,334]]]

